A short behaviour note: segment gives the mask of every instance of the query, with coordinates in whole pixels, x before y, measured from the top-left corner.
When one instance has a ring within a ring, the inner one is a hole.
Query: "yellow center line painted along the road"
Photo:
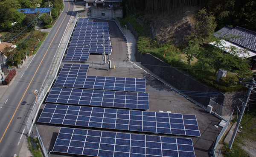
[[[69,8],[70,8],[70,4],[68,3],[68,9],[67,9],[67,10],[69,10]],[[62,25],[63,21],[65,20],[66,16],[67,16],[67,14],[65,15],[64,19],[62,20],[61,25]],[[59,26],[59,28],[58,28],[56,34],[58,33],[59,29],[61,28],[61,25]],[[52,41],[55,39],[56,34],[54,35]],[[51,45],[52,45],[52,42],[50,43],[49,47],[47,48],[47,51],[45,52],[44,57],[45,57],[46,53],[48,52],[48,50],[49,50],[49,48],[50,48]],[[39,69],[41,63],[43,62],[44,57],[43,57],[43,59],[41,60],[40,64],[38,65],[38,68],[37,68],[37,70],[35,71],[35,74],[37,73],[37,71],[38,71],[38,69]],[[29,82],[29,86],[30,86],[31,82],[32,82],[33,79],[34,79],[35,74],[34,74],[34,76],[32,77],[31,81]],[[12,118],[11,118],[11,120],[10,120],[8,126],[6,127],[6,129],[5,129],[4,133],[3,133],[3,136],[1,137],[0,143],[1,143],[1,141],[3,140],[3,137],[4,137],[4,135],[6,134],[6,131],[7,131],[7,129],[9,128],[9,126],[10,126],[10,124],[11,124],[12,119],[14,118],[14,115],[15,115],[15,113],[17,112],[17,109],[18,109],[19,106],[20,106],[22,99],[24,98],[24,96],[25,96],[27,90],[29,89],[29,86],[26,88],[26,91],[25,91],[25,93],[23,94],[23,96],[22,96],[22,98],[21,98],[21,100],[20,100],[20,103],[18,104],[17,108],[15,109],[15,112],[14,112],[14,114],[12,115]]]

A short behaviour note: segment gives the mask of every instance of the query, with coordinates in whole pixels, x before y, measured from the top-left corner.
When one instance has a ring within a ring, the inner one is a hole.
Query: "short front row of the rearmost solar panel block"
[[[84,61],[86,62],[89,58],[90,53],[81,52],[68,52],[63,59],[64,61]]]

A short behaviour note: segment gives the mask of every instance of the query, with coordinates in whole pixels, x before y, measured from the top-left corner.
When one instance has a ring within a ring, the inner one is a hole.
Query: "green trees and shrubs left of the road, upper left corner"
[[[51,7],[51,14],[23,14],[18,8]],[[33,55],[40,48],[46,38],[46,32],[35,29],[36,25],[44,25],[44,29],[51,28],[58,19],[64,5],[62,0],[0,0],[0,37],[1,42],[16,45],[15,49],[6,48],[6,66],[22,64],[26,55]]]

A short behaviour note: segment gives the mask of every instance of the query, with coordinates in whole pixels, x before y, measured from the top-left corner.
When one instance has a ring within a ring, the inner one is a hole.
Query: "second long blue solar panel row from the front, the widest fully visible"
[[[195,115],[46,104],[38,122],[200,137]]]

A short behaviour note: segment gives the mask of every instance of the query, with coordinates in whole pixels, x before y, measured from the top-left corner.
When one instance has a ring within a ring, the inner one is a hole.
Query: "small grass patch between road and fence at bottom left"
[[[28,137],[28,147],[33,157],[43,157],[38,138]]]

